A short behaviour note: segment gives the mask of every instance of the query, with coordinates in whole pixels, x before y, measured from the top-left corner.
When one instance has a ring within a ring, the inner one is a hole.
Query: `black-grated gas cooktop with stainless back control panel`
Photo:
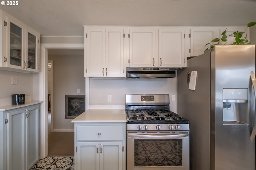
[[[126,95],[127,124],[188,124],[169,104],[168,94]]]

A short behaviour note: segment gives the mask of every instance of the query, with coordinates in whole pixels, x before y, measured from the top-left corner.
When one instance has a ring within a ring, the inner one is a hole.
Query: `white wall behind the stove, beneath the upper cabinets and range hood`
[[[95,79],[90,78],[90,105],[125,105],[126,94],[169,94],[177,96],[177,79]],[[107,96],[112,95],[112,102]],[[177,111],[177,103],[170,102]]]

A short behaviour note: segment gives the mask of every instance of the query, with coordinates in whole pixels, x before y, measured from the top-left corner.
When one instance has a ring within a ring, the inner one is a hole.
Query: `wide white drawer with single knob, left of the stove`
[[[123,126],[77,126],[76,140],[123,140]]]

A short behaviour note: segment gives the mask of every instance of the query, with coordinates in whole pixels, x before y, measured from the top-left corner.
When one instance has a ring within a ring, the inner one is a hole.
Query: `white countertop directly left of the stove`
[[[71,122],[126,122],[126,112],[125,109],[89,109],[73,119]]]

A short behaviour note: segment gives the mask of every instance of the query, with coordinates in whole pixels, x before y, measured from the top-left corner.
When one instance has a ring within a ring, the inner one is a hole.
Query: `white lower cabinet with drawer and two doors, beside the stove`
[[[75,123],[76,170],[125,170],[125,123]]]

